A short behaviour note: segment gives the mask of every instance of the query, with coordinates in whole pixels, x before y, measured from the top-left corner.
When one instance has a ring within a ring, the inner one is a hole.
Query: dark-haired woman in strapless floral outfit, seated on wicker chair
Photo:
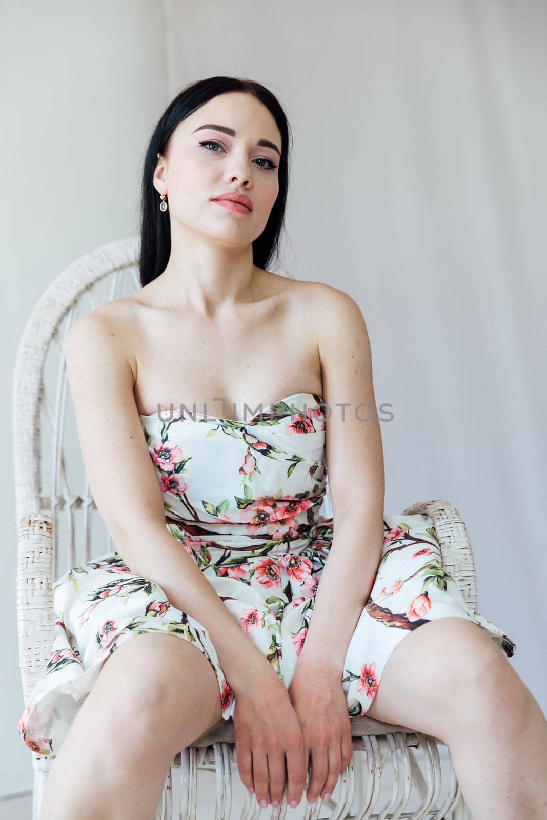
[[[540,818],[545,718],[513,641],[467,610],[426,519],[384,515],[362,313],[267,271],[288,161],[262,85],[184,89],[144,163],[143,286],[71,328],[116,551],[55,585],[55,646],[18,725],[57,756],[41,820],[149,820],[176,752],[232,716],[262,806],[285,777],[299,804],[309,758],[306,798],[328,799],[365,713],[445,740],[475,820]]]

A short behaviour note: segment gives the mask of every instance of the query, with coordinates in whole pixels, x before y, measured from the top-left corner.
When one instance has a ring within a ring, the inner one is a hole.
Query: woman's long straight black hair
[[[169,217],[160,211],[159,197],[153,185],[157,154],[166,155],[171,134],[181,121],[208,100],[230,91],[253,94],[253,97],[267,107],[281,134],[281,156],[277,170],[279,194],[262,234],[253,242],[253,263],[256,266],[266,270],[272,260],[277,261],[289,187],[289,122],[277,98],[262,84],[239,77],[208,77],[206,80],[186,85],[177,94],[162,113],[148,143],[141,189],[139,274],[140,284],[143,286],[165,271],[171,255]]]

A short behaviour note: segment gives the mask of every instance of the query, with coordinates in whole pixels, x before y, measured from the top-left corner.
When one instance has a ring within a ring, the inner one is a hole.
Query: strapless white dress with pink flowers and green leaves
[[[320,510],[326,494],[321,400],[292,394],[244,422],[184,405],[141,416],[167,529],[287,688],[333,537],[333,517]],[[376,580],[340,670],[352,716],[367,713],[394,647],[431,620],[465,618],[508,657],[515,649],[467,608],[428,518],[385,513],[384,531]],[[175,608],[155,581],[131,572],[116,551],[58,578],[53,604],[52,652],[17,723],[37,754],[57,754],[103,661],[144,632],[197,646],[216,673],[222,717],[233,716],[235,695],[205,627]]]

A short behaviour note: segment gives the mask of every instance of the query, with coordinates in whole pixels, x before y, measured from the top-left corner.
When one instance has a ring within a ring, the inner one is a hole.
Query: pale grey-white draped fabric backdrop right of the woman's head
[[[284,264],[357,300],[387,512],[448,499],[547,708],[547,5],[166,0],[169,97],[248,76],[294,130]],[[465,658],[462,658],[465,674]]]

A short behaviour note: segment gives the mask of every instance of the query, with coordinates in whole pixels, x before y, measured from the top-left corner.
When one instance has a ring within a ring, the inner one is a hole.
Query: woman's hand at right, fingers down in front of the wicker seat
[[[289,697],[302,728],[306,766],[312,756],[306,799],[313,803],[321,795],[328,800],[353,754],[341,675],[325,663],[303,660],[297,663]]]

